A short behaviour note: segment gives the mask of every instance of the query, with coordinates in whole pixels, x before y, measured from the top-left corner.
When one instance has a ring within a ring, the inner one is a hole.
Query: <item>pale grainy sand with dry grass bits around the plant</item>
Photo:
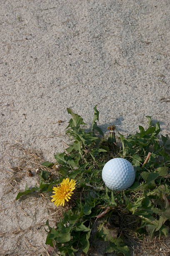
[[[112,123],[135,132],[151,115],[170,134],[170,2],[1,0],[0,6],[0,253],[47,255],[44,223],[55,208],[42,196],[15,201],[25,183],[37,182],[37,166],[17,157],[54,160],[61,140],[68,141],[67,107],[90,125],[97,104],[104,132]],[[24,155],[21,148],[35,151]]]

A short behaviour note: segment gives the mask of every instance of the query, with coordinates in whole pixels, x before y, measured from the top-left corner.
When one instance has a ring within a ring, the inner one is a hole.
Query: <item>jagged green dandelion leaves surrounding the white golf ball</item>
[[[116,226],[115,222],[111,221],[112,216],[133,216],[138,224],[133,232],[140,238],[145,234],[153,238],[158,231],[160,236],[168,234],[170,138],[168,135],[159,136],[159,123],[154,125],[151,117],[147,116],[146,130],[140,125],[138,132],[127,137],[118,132],[122,146],[117,147],[115,137],[107,140],[102,136],[103,133],[96,122],[99,120],[97,106],[94,111],[91,131],[86,131],[82,117],[67,108],[72,118],[66,134],[73,142],[65,152],[54,155],[55,164],[59,166],[58,179],[52,178],[50,172],[42,170],[39,174],[40,186],[29,189],[26,185],[25,191],[19,192],[16,199],[34,191],[52,192],[52,187],[60,184],[63,178],[75,179],[74,193],[77,199],[74,200],[74,206],[71,210],[63,212],[57,227],[52,228],[48,221],[46,222],[49,230],[46,244],[57,247],[61,255],[74,256],[78,249],[87,253],[91,230],[94,223],[97,223],[96,220],[100,219],[96,237],[107,243],[107,252],[116,251],[129,256],[129,248],[121,235],[126,235],[126,229],[121,229],[121,223]],[[96,131],[100,133],[99,136]],[[150,158],[145,162],[149,152]],[[128,159],[135,167],[135,182],[125,191],[111,191],[103,184],[102,168],[113,157]],[[42,165],[52,168],[54,164],[46,161]],[[72,198],[70,200],[73,200]]]

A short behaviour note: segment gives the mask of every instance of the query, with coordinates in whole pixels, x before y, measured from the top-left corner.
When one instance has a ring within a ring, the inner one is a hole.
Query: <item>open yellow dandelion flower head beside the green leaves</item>
[[[55,195],[52,195],[51,202],[54,202],[56,206],[62,205],[64,206],[65,200],[68,202],[71,195],[73,194],[73,190],[75,189],[75,180],[74,179],[63,179],[60,183],[60,186],[53,187],[53,192]]]

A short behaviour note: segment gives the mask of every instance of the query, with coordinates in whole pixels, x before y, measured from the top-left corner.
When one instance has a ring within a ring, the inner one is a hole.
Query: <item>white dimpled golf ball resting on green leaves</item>
[[[102,179],[108,188],[121,191],[132,186],[135,181],[135,169],[128,160],[113,158],[104,165]]]

